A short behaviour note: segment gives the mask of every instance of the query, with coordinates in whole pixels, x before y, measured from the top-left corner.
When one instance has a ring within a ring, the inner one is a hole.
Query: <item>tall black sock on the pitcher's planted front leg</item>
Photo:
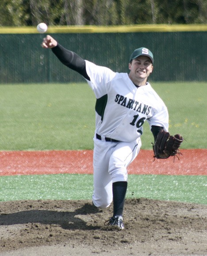
[[[123,207],[126,196],[127,181],[118,181],[112,184],[113,189],[113,204],[114,204],[114,214],[113,216],[122,216]]]

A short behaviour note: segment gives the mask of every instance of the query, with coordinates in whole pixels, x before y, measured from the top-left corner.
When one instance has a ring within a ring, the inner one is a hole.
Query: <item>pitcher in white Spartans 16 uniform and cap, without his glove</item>
[[[146,47],[134,50],[127,74],[82,59],[50,35],[42,47],[52,49],[63,64],[82,75],[96,96],[92,202],[106,208],[113,201],[113,216],[105,225],[123,229],[127,166],[139,153],[143,124],[149,123],[155,141],[161,130],[169,128],[167,107],[147,82],[153,54]]]

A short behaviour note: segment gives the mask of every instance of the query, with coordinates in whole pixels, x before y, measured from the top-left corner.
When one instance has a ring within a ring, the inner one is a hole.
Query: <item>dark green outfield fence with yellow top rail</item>
[[[138,47],[154,54],[153,81],[207,81],[207,25],[51,27],[64,47],[114,71],[128,72]],[[50,50],[36,28],[0,28],[0,83],[82,82]]]

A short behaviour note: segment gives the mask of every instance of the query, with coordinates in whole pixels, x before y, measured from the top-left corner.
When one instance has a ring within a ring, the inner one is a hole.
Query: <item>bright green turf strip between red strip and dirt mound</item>
[[[91,200],[91,174],[0,177],[0,201]],[[207,204],[207,176],[129,175],[126,198]]]

